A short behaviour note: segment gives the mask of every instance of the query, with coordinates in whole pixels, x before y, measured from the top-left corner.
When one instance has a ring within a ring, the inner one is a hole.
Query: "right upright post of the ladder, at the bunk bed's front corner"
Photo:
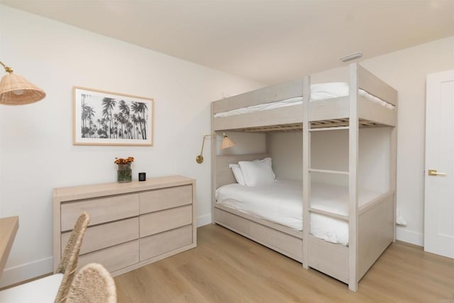
[[[358,63],[349,66],[350,114],[348,128],[348,289],[358,290]]]

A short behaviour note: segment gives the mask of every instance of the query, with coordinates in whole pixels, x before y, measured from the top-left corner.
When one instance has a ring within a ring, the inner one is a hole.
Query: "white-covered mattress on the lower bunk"
[[[367,204],[380,193],[358,190],[358,204]],[[303,202],[301,181],[276,180],[257,187],[238,183],[216,189],[216,202],[245,214],[301,231]],[[311,206],[348,216],[348,187],[313,182]],[[321,214],[311,214],[311,234],[331,243],[348,245],[348,223]]]

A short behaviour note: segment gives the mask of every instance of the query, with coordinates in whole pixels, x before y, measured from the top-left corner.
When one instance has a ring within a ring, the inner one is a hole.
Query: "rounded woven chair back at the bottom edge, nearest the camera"
[[[74,277],[66,303],[116,303],[114,278],[99,263],[85,265]]]

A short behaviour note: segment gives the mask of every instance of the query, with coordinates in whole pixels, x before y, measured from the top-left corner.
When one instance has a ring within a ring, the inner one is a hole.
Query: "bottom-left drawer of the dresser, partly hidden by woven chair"
[[[87,253],[79,256],[77,268],[88,263],[101,263],[109,272],[126,268],[139,262],[139,241],[124,243],[111,248],[97,250],[93,253]]]

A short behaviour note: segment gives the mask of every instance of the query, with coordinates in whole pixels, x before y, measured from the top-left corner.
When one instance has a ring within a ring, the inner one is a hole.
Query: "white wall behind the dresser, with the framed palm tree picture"
[[[52,188],[114,182],[115,157],[133,173],[197,180],[198,223],[211,222],[210,102],[262,85],[0,5],[0,60],[48,96],[0,106],[0,216],[19,216],[8,285],[52,270]],[[155,99],[153,147],[72,145],[72,87]]]

